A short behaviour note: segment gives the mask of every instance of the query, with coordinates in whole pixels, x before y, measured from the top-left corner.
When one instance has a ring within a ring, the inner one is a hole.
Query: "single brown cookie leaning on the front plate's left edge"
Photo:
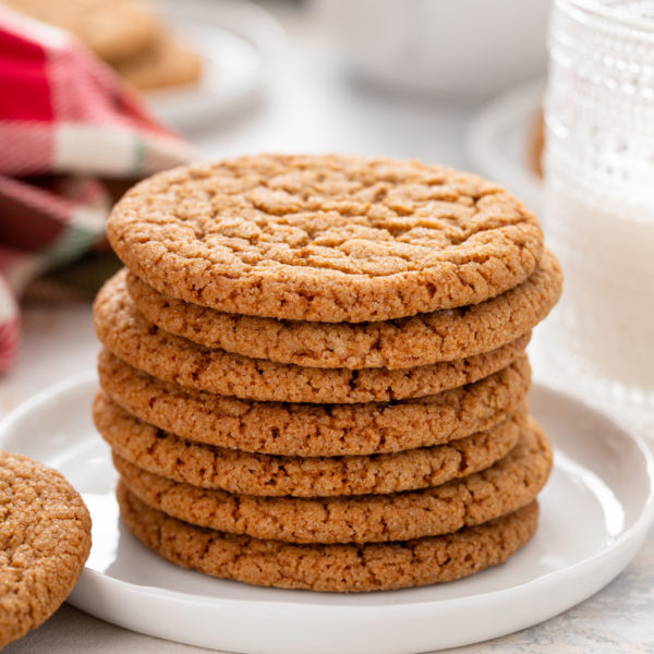
[[[90,550],[90,517],[57,471],[0,451],[0,649],[45,622]]]

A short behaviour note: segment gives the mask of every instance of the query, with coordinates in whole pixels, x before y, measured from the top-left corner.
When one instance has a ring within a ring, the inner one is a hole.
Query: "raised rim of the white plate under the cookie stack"
[[[4,432],[7,429],[9,429],[13,423],[22,420],[23,416],[25,416],[26,414],[34,411],[41,403],[45,403],[45,402],[51,400],[52,397],[58,396],[60,393],[64,393],[65,391],[71,390],[72,388],[75,388],[77,386],[83,386],[83,385],[87,385],[87,384],[97,384],[97,374],[95,371],[85,372],[80,375],[75,375],[74,377],[71,377],[69,379],[65,379],[59,384],[56,384],[55,386],[51,386],[50,388],[36,395],[34,398],[22,403],[20,407],[17,407],[12,412],[10,412],[0,422],[0,446],[2,445],[2,441],[3,441]],[[544,387],[544,388],[546,389],[547,392],[552,393],[553,396],[560,396],[561,398],[566,398],[567,400],[570,399],[567,396],[565,396],[564,393],[560,393],[548,387]],[[573,399],[572,401],[578,402],[579,404],[583,405],[585,409],[589,409],[590,411],[592,411],[594,413],[602,413],[602,412],[598,412],[596,409],[593,409],[577,399]],[[602,414],[602,415],[605,415],[605,414]],[[608,420],[610,420],[610,419],[608,419]],[[619,550],[629,548],[633,544],[634,541],[644,538],[652,521],[654,520],[654,458],[653,458],[650,449],[643,441],[643,439],[640,438],[640,436],[638,436],[635,434],[631,434],[629,432],[626,432],[622,428],[620,428],[620,431],[625,432],[625,434],[628,435],[633,440],[633,444],[638,448],[640,455],[643,457],[643,460],[645,462],[646,474],[647,474],[647,477],[650,481],[650,488],[649,488],[649,495],[643,505],[643,510],[642,510],[641,514],[638,517],[638,519],[633,522],[633,524],[631,526],[629,526],[621,534],[619,534],[615,538],[615,541],[613,543],[610,543],[610,545],[608,545],[605,549],[603,549],[602,552],[600,552],[595,555],[592,555],[581,561],[568,565],[568,566],[566,566],[566,568],[564,568],[561,570],[555,570],[555,571],[548,572],[548,573],[540,577],[538,579],[530,580],[528,582],[524,582],[524,583],[521,583],[521,584],[518,584],[518,585],[514,585],[514,586],[511,586],[508,589],[501,589],[501,590],[493,591],[493,592],[488,592],[488,593],[481,593],[481,594],[474,595],[474,596],[447,598],[447,600],[425,600],[425,601],[417,601],[415,603],[407,603],[407,604],[400,604],[400,605],[392,604],[392,605],[387,605],[387,606],[385,606],[385,605],[375,605],[375,606],[354,606],[354,605],[352,605],[352,606],[348,606],[347,614],[348,614],[349,621],[351,621],[352,618],[354,618],[354,619],[365,618],[368,616],[374,616],[376,618],[379,618],[380,614],[391,614],[395,618],[397,618],[399,614],[400,614],[400,617],[402,614],[411,614],[411,616],[413,618],[415,618],[415,617],[417,617],[416,614],[419,611],[433,613],[434,608],[437,607],[439,604],[447,605],[448,610],[456,610],[456,608],[460,605],[465,605],[469,609],[473,610],[474,607],[472,605],[477,605],[481,608],[482,606],[487,605],[488,603],[492,603],[494,601],[494,598],[496,598],[496,597],[497,598],[501,597],[506,602],[507,598],[509,598],[509,600],[519,598],[520,595],[523,594],[523,592],[525,592],[525,591],[529,592],[530,595],[537,591],[544,592],[548,588],[553,588],[553,586],[557,585],[559,583],[559,580],[561,580],[562,578],[567,578],[570,576],[577,576],[577,574],[583,572],[583,570],[585,568],[595,568],[596,565],[600,561],[602,561],[603,559],[613,559],[616,556],[616,553],[618,553]],[[179,591],[169,591],[166,589],[159,589],[159,588],[155,588],[155,586],[148,586],[148,585],[130,583],[126,581],[120,581],[120,580],[111,578],[107,574],[104,574],[101,572],[98,572],[96,570],[90,570],[88,568],[84,569],[83,576],[89,577],[90,579],[93,579],[95,581],[100,581],[102,584],[107,584],[113,589],[120,590],[121,592],[130,593],[132,595],[138,595],[141,597],[152,597],[152,598],[166,597],[166,598],[179,602],[179,603],[184,603],[187,606],[197,606],[197,607],[205,607],[205,608],[206,607],[222,607],[222,608],[238,607],[238,608],[241,608],[243,606],[247,606],[251,609],[256,609],[258,617],[263,617],[262,614],[264,614],[264,613],[266,613],[268,615],[277,614],[280,610],[288,609],[288,608],[292,608],[292,610],[294,611],[294,615],[298,615],[299,613],[306,613],[306,614],[313,615],[313,614],[315,614],[316,608],[319,607],[320,611],[323,611],[323,613],[338,614],[339,617],[341,618],[341,620],[342,620],[342,614],[343,614],[343,606],[338,606],[338,605],[329,606],[329,605],[317,605],[317,604],[303,604],[301,602],[293,602],[293,601],[280,601],[280,602],[276,602],[275,604],[272,604],[269,602],[263,602],[263,601],[256,601],[256,600],[201,597],[197,595],[191,595],[189,593],[181,593]],[[614,576],[611,576],[611,579],[613,579],[613,577]],[[602,585],[604,585],[604,584],[602,584]],[[556,615],[556,614],[553,613],[552,615]],[[302,616],[299,616],[299,617],[301,618]]]

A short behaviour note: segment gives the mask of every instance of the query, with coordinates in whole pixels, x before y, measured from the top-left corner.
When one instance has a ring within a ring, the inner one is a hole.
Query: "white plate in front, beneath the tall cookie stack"
[[[534,414],[557,450],[535,537],[507,564],[423,589],[339,595],[259,589],[177,568],[119,523],[95,375],[41,393],[0,424],[0,446],[59,469],[93,516],[93,549],[70,602],[129,629],[257,654],[410,654],[470,644],[554,616],[608,583],[654,518],[645,446],[543,387]]]

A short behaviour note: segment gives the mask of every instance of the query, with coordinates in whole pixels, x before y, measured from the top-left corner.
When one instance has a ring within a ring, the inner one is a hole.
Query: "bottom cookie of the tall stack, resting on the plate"
[[[486,524],[405,543],[294,545],[193,526],[118,487],[128,529],[165,559],[255,585],[340,593],[453,581],[506,561],[534,535],[535,501]]]

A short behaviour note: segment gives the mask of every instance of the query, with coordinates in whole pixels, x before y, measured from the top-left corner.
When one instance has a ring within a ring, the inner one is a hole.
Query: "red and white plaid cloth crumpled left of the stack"
[[[98,178],[192,157],[70,34],[0,7],[0,372],[19,350],[26,283],[102,238],[110,198]]]

